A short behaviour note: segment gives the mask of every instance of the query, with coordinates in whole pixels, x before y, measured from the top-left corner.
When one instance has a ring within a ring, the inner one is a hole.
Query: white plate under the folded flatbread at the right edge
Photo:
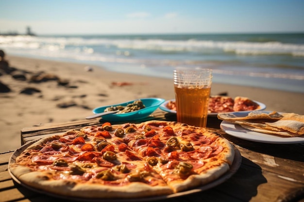
[[[254,132],[243,128],[239,124],[233,124],[226,121],[223,121],[220,124],[220,128],[228,135],[243,140],[272,144],[295,144],[304,142],[304,137],[280,137],[265,133]]]

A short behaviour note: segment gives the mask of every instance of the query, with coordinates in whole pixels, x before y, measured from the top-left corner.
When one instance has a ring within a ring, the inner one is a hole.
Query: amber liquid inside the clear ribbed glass
[[[177,121],[206,127],[211,88],[179,88],[174,86]]]

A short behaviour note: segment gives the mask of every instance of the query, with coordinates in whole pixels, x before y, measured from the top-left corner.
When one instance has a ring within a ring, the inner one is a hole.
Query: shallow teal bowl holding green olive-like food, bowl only
[[[112,121],[112,122],[121,122],[121,121],[131,121],[131,120],[139,120],[142,118],[145,118],[152,114],[153,111],[155,111],[161,104],[163,104],[166,100],[162,98],[141,98],[141,99],[136,99],[136,100],[141,100],[142,103],[145,105],[145,108],[139,109],[137,111],[132,111],[128,113],[122,113],[122,114],[107,114],[103,115],[102,119],[106,121]],[[98,107],[93,109],[93,113],[101,113],[104,111],[104,109],[111,107],[111,106],[127,106],[128,104],[133,103],[136,100],[116,104],[116,105],[108,105],[108,106],[103,106],[103,107]]]

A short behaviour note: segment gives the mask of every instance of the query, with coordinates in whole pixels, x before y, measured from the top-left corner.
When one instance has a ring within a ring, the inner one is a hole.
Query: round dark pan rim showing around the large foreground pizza
[[[121,198],[116,198],[116,199],[102,199],[102,198],[78,198],[78,197],[70,197],[70,196],[63,196],[63,195],[58,195],[58,194],[53,194],[41,189],[37,189],[31,186],[28,186],[22,182],[20,182],[16,176],[14,176],[14,174],[10,171],[10,164],[11,163],[15,163],[16,162],[16,157],[18,155],[20,155],[26,148],[28,148],[31,144],[33,144],[34,142],[36,142],[38,140],[34,140],[31,142],[28,142],[27,144],[24,144],[23,146],[21,146],[19,149],[17,149],[11,156],[10,160],[9,160],[9,164],[8,164],[8,171],[12,177],[12,179],[14,181],[16,181],[19,185],[24,186],[32,191],[41,193],[41,194],[45,194],[51,197],[55,197],[55,198],[61,198],[61,199],[67,199],[67,200],[73,200],[73,201],[86,201],[86,202],[150,202],[150,201],[156,201],[156,200],[164,200],[164,199],[170,199],[170,198],[176,198],[176,197],[182,197],[182,196],[186,196],[189,194],[194,194],[194,193],[198,193],[201,191],[205,191],[207,189],[213,188],[215,186],[218,186],[220,184],[222,184],[223,182],[227,181],[231,176],[233,176],[236,171],[238,170],[238,168],[241,165],[242,162],[242,156],[240,154],[240,152],[235,148],[235,157],[234,157],[234,161],[232,163],[232,165],[230,166],[230,170],[227,171],[226,173],[224,173],[223,175],[221,175],[218,179],[216,179],[213,182],[210,182],[206,185],[203,186],[199,186],[196,188],[192,188],[186,191],[182,191],[179,193],[174,193],[174,194],[169,194],[169,195],[162,195],[162,196],[155,196],[155,197],[145,197],[145,198],[134,198],[134,199],[121,199]]]

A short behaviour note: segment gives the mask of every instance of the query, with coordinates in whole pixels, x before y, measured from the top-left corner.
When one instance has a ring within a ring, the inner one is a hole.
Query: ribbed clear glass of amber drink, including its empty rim
[[[211,69],[177,68],[174,70],[178,122],[206,127],[211,83]]]

